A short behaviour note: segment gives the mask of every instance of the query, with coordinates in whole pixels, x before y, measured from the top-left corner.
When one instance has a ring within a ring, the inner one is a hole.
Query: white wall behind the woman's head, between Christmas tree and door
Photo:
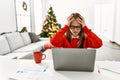
[[[86,20],[89,28],[94,28],[94,7],[96,4],[112,3],[113,0],[49,0],[53,6],[57,20],[66,23],[67,17],[73,12],[79,12]]]

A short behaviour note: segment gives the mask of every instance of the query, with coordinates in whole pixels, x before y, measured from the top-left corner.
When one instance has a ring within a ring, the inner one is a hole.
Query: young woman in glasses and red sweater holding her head
[[[95,35],[85,24],[79,13],[72,13],[67,24],[60,29],[50,42],[55,47],[63,48],[99,48],[102,40]]]

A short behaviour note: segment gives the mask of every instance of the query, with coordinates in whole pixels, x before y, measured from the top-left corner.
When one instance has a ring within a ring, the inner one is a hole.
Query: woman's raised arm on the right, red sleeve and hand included
[[[81,15],[78,18],[78,22],[82,24],[82,29],[85,32],[85,44],[84,46],[87,48],[99,48],[102,46],[102,40],[94,34],[90,29],[87,28],[85,19]]]

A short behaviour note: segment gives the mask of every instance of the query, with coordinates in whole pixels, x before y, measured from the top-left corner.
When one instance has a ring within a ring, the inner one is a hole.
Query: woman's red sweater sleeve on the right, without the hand
[[[94,34],[87,26],[83,27],[84,32],[86,33],[86,47],[87,48],[99,48],[102,46],[102,40]]]

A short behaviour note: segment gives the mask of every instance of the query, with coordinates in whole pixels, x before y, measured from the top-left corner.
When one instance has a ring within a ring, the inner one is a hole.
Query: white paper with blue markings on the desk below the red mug
[[[15,80],[37,80],[36,78],[43,75],[47,68],[47,63],[20,65],[16,72],[11,74],[9,78]]]

